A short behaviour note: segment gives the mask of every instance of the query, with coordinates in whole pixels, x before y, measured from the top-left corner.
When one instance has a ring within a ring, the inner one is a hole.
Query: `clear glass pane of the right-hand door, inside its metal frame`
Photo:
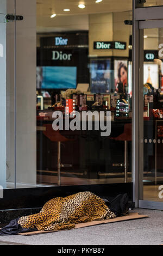
[[[162,28],[143,29],[143,200],[162,202]]]

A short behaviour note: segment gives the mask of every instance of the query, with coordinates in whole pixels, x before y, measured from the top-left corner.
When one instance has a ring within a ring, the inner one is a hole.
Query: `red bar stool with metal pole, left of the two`
[[[58,152],[57,152],[57,170],[58,170],[58,186],[60,186],[60,168],[61,167],[72,167],[72,164],[63,164],[61,163],[61,142],[73,141],[73,139],[68,139],[65,136],[60,134],[60,131],[54,131],[52,124],[44,124],[46,130],[43,131],[43,134],[50,139],[52,142],[57,142]]]

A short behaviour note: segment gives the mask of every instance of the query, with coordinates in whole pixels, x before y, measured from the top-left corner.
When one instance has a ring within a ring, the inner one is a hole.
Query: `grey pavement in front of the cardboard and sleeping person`
[[[0,236],[0,245],[161,245],[163,211],[134,209],[130,212],[148,218],[34,236]]]

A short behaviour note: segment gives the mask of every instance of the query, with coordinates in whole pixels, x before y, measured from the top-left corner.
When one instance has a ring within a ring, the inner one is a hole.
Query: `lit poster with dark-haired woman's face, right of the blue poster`
[[[123,92],[128,92],[127,60],[114,61],[115,90],[118,92],[118,84],[123,84]]]

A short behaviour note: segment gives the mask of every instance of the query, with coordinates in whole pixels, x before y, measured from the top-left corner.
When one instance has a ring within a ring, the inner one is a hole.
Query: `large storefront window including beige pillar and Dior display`
[[[132,181],[132,1],[121,2],[17,1],[7,188]]]

